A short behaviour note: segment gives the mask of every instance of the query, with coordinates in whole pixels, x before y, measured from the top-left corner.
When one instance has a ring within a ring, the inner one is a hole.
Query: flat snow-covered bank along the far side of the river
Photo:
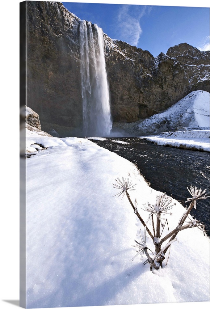
[[[166,132],[154,136],[140,137],[156,145],[191,150],[210,151],[209,130]]]

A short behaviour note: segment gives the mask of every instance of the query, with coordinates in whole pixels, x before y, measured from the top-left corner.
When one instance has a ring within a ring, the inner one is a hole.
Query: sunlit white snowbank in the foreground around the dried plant
[[[130,195],[145,221],[142,205],[157,195],[134,164],[87,139],[29,132],[27,146],[42,148],[26,159],[27,307],[209,301],[209,238],[197,228],[179,232],[154,273],[130,261],[142,226],[112,183],[136,184]],[[170,230],[184,212],[175,202]]]

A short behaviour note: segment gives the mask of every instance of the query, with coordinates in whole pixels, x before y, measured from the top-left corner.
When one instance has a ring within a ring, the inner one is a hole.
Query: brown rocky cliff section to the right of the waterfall
[[[184,43],[169,49],[173,57],[168,51],[154,58],[125,42],[106,37],[106,44],[115,121],[137,121],[163,111],[191,91],[209,92],[209,52]],[[188,48],[193,54],[187,53]],[[185,50],[183,62],[181,50]]]

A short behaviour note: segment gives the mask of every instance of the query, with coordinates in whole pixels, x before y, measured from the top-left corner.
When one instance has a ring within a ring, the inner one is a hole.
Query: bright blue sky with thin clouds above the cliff
[[[149,50],[154,57],[184,42],[209,50],[209,7],[62,3],[80,19],[96,23],[112,39]]]

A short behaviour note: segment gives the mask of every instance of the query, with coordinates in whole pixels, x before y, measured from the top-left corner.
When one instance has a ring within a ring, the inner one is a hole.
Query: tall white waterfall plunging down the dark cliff
[[[103,31],[82,20],[79,27],[84,136],[109,136],[112,128]]]

